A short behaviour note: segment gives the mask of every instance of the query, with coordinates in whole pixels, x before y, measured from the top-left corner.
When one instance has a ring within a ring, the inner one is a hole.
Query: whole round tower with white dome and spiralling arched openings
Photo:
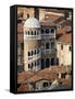
[[[40,24],[35,18],[29,18],[24,23],[24,70],[35,72],[40,69]]]

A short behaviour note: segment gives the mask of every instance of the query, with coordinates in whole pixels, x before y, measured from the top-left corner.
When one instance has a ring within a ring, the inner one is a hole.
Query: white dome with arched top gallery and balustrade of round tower
[[[29,18],[24,23],[24,38],[25,40],[40,40],[40,24],[35,18]]]

